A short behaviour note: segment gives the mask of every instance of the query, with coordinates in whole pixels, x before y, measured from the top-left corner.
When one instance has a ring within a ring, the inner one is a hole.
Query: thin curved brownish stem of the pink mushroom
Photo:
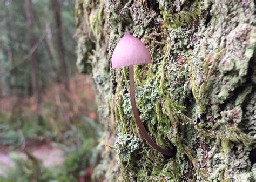
[[[174,152],[169,149],[164,149],[163,147],[160,147],[157,145],[154,140],[150,137],[149,133],[147,133],[142,120],[140,120],[139,112],[136,106],[136,100],[135,100],[135,89],[134,89],[134,76],[133,76],[133,66],[129,66],[129,79],[130,79],[130,95],[131,95],[131,104],[132,104],[132,112],[134,114],[136,123],[139,126],[139,130],[142,133],[142,136],[147,141],[147,143],[158,152],[161,152],[165,154],[166,156],[174,156]]]

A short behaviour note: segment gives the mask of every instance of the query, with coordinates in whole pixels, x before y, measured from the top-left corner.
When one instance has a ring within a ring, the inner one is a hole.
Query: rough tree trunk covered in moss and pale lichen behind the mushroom
[[[252,0],[77,0],[76,20],[77,65],[95,80],[105,131],[95,178],[256,180]],[[154,140],[177,149],[174,158],[145,143],[131,112],[127,69],[111,68],[125,33],[150,50],[153,63],[134,70],[137,106]]]

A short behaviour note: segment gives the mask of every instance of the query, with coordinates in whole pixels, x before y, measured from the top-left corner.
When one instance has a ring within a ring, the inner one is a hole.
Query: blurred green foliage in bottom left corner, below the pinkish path
[[[76,181],[79,173],[84,172],[84,168],[89,165],[89,163],[84,163],[84,161],[90,159],[92,154],[90,146],[89,143],[85,142],[77,152],[67,154],[64,165],[51,168],[43,167],[41,161],[35,158],[24,160],[22,156],[12,155],[12,158],[15,160],[15,167],[12,170],[8,170],[5,177],[0,177],[0,181]]]

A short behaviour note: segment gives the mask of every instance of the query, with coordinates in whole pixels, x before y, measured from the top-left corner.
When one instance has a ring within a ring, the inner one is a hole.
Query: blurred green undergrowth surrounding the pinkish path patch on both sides
[[[54,140],[57,137],[53,131],[47,130],[48,125],[38,126],[35,122],[29,121],[28,118],[26,118],[26,123],[28,124],[23,125],[17,132],[15,127],[18,127],[18,122],[12,124],[0,122],[0,145],[11,145],[10,150],[15,151],[21,148],[26,139],[52,138]],[[80,174],[86,172],[87,167],[94,166],[96,163],[98,154],[93,152],[93,148],[96,147],[99,129],[95,121],[84,118],[81,123],[77,123],[76,126],[73,125],[73,130],[64,133],[64,136],[66,134],[69,139],[58,143],[65,151],[63,165],[46,168],[43,167],[42,161],[30,156],[29,153],[25,153],[28,155],[28,159],[24,159],[22,154],[12,152],[11,158],[15,165],[6,171],[4,177],[0,177],[0,181],[71,182],[77,180]],[[75,142],[81,143],[81,146],[77,146]]]

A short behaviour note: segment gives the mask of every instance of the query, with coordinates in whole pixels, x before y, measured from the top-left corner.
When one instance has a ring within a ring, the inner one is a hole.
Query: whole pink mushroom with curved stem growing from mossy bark
[[[129,79],[130,79],[130,97],[132,104],[132,111],[139,126],[139,130],[147,143],[153,147],[153,149],[165,154],[166,156],[174,156],[174,151],[164,149],[154,142],[147,133],[142,120],[140,120],[139,112],[136,106],[135,90],[134,90],[134,76],[133,65],[141,65],[151,63],[151,56],[149,50],[138,38],[132,35],[124,35],[120,39],[112,55],[112,68],[122,68],[129,66]]]

